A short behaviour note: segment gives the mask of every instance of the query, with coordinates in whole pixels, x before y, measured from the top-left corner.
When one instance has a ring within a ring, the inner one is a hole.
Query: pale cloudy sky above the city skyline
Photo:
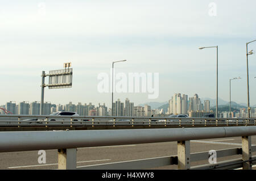
[[[246,42],[256,39],[256,1],[2,1],[0,0],[0,105],[40,101],[41,74],[72,62],[73,84],[44,92],[54,104],[106,103],[98,75],[159,73],[159,96],[114,93],[135,105],[166,102],[175,93],[247,103]],[[249,50],[256,50],[256,42]],[[249,56],[250,104],[256,104],[256,55]],[[46,78],[46,83],[48,77]]]

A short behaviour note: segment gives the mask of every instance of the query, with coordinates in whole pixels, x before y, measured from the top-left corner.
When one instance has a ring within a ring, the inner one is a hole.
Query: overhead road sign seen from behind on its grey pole
[[[42,92],[41,92],[41,105],[40,105],[40,115],[43,114],[43,104],[44,104],[44,87],[49,89],[61,89],[61,88],[70,88],[72,87],[72,75],[73,69],[69,68],[71,62],[65,63],[64,68],[61,70],[51,70],[49,74],[45,74],[45,71],[42,71]],[[44,83],[44,78],[49,76],[49,84]]]

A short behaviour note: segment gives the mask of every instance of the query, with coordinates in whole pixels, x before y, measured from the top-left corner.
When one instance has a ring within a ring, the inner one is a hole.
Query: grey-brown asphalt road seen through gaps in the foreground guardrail
[[[252,144],[256,145],[256,136],[252,137]],[[191,141],[191,153],[238,147],[241,147],[241,137]],[[77,166],[165,157],[169,155],[177,155],[177,142],[78,148]],[[0,153],[0,169],[57,169],[57,150],[46,150],[45,164],[39,164],[38,158],[38,151]],[[234,158],[241,158],[241,155],[217,158],[217,162]],[[192,162],[191,166],[207,163],[207,160]],[[152,169],[177,169],[177,166],[164,166]]]

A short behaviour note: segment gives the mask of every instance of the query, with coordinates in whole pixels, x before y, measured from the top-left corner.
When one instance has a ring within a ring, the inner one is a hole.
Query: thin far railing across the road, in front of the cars
[[[0,115],[0,127],[97,127],[97,126],[249,126],[256,125],[254,118],[172,118],[125,116],[50,116],[50,115]]]

